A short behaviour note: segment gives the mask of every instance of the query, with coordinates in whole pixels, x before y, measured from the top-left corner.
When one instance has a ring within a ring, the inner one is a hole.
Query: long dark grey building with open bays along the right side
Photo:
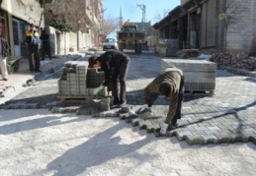
[[[178,39],[179,49],[250,55],[256,50],[255,8],[254,0],[182,0],[153,28],[160,38]]]

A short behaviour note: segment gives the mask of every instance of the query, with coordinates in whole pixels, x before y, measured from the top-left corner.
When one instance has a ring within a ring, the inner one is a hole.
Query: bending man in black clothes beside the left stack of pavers
[[[94,95],[111,83],[112,96],[114,96],[113,105],[126,104],[128,66],[128,55],[117,50],[107,51],[99,57],[90,57],[89,68],[101,68],[105,73],[105,81],[99,88],[94,89]]]

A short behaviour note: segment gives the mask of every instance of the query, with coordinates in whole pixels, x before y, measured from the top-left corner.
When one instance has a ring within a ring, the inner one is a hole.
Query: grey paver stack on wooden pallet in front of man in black
[[[92,96],[94,88],[104,81],[104,72],[88,68],[88,61],[68,61],[58,80],[58,95],[61,98],[79,98]],[[107,88],[99,93],[107,95]]]

